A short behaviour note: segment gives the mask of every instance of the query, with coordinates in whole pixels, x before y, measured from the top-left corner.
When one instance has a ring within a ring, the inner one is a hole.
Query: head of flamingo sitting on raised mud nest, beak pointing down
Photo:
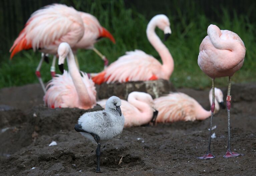
[[[157,17],[157,27],[162,31],[164,31],[164,34],[165,34],[164,41],[166,41],[167,38],[172,34],[169,18],[163,14],[157,15],[156,17]]]

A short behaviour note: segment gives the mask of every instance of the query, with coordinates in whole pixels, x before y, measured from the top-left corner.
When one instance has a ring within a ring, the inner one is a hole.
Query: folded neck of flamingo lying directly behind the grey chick
[[[139,110],[140,120],[149,122],[152,119],[153,109],[148,103],[137,100],[136,95],[129,96],[127,101]]]

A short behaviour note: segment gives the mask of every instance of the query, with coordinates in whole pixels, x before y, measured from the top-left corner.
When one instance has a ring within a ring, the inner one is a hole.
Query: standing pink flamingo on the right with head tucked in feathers
[[[240,37],[231,31],[220,30],[216,25],[210,25],[207,29],[207,34],[200,45],[200,52],[198,55],[198,65],[201,70],[212,78],[212,106],[211,106],[211,123],[210,123],[210,136],[207,153],[199,157],[199,159],[210,159],[215,156],[211,154],[211,131],[213,112],[215,109],[214,100],[214,81],[215,78],[228,76],[228,95],[226,99],[228,111],[228,150],[223,156],[224,158],[235,157],[240,155],[231,151],[230,147],[230,108],[231,108],[231,77],[239,70],[244,62],[246,48]]]

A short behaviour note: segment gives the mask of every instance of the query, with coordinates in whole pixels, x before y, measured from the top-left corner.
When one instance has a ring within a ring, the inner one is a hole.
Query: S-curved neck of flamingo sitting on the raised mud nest
[[[158,19],[154,18],[149,22],[147,27],[147,37],[149,42],[159,53],[163,61],[162,71],[169,79],[174,70],[174,61],[169,49],[162,43],[162,41],[159,39],[155,32],[157,21]]]

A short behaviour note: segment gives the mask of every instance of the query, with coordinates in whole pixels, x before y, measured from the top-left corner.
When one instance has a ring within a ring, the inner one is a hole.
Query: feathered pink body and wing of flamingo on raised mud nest
[[[92,80],[97,84],[154,80],[158,79],[161,66],[157,59],[142,50],[129,51]]]

